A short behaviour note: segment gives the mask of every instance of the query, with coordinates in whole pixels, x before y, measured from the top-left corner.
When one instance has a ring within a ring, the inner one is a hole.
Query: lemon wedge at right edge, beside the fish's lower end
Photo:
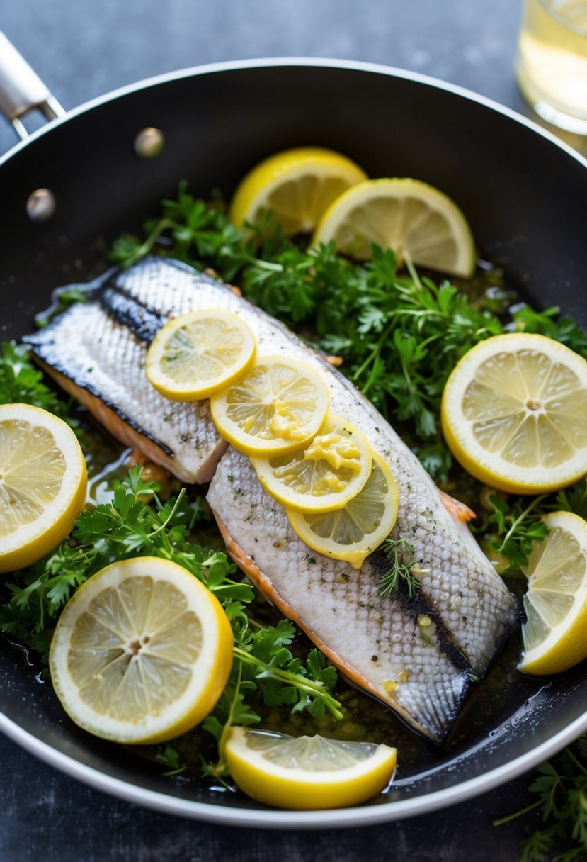
[[[547,538],[534,545],[522,626],[524,673],[567,671],[587,659],[587,523],[572,512],[542,519]]]

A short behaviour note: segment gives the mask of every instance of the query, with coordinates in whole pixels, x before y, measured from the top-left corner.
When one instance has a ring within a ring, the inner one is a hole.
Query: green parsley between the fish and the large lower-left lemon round
[[[343,717],[333,696],[337,671],[313,649],[303,661],[288,648],[298,629],[281,620],[275,626],[258,625],[247,613],[253,601],[248,583],[232,578],[237,567],[226,554],[201,547],[192,534],[206,509],[199,498],[189,501],[182,490],[162,503],[158,485],[145,482],[142,469],[133,467],[128,478],[114,490],[111,503],[102,503],[77,518],[71,538],[63,541],[45,559],[3,582],[8,601],[0,605],[0,631],[46,653],[61,609],[85,580],[104,565],[118,559],[154,556],[170,559],[201,580],[219,599],[232,623],[234,665],[217,708],[203,727],[219,745],[233,723],[248,725],[259,715],[248,703],[260,696],[266,706],[287,706],[292,712],[307,709],[315,718],[327,711]],[[179,774],[174,750],[159,752],[158,759]],[[219,766],[207,771],[225,772],[221,749]]]

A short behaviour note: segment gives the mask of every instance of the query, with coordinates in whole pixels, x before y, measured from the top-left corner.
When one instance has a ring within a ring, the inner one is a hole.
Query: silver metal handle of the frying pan
[[[26,59],[0,31],[0,111],[22,141],[28,131],[21,117],[31,110],[42,111],[47,120],[65,114]]]

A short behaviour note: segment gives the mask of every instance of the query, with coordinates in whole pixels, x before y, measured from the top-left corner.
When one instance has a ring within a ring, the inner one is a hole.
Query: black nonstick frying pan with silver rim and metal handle
[[[0,106],[22,134],[24,109],[56,117],[0,159],[3,338],[30,331],[54,287],[103,269],[112,238],[139,229],[179,179],[195,194],[217,187],[229,196],[264,156],[303,144],[341,150],[373,177],[439,187],[510,284],[587,326],[587,162],[533,123],[457,87],[383,66],[263,59],[153,78],[59,116],[59,104],[1,42]],[[153,128],[164,147],[145,158],[137,135]],[[232,825],[332,828],[421,814],[514,778],[587,730],[585,663],[560,678],[519,678],[494,692],[491,715],[479,715],[452,749],[400,774],[375,803],[274,811],[163,778],[84,734],[40,683],[32,657],[1,638],[0,656],[0,729],[13,740],[100,790]]]

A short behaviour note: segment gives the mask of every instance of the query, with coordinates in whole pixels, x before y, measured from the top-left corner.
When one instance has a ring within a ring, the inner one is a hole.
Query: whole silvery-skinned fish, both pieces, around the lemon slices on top
[[[405,536],[415,548],[422,583],[416,597],[401,587],[380,597],[377,584],[387,567],[381,552],[356,572],[309,551],[249,460],[232,447],[226,451],[207,402],[173,403],[152,390],[144,363],[154,334],[170,317],[205,308],[238,314],[255,332],[259,354],[283,353],[318,369],[332,412],[361,428],[386,459],[399,494],[392,535]],[[515,627],[517,603],[411,450],[343,375],[226,285],[157,258],[110,275],[89,303],[71,307],[28,341],[49,371],[81,392],[125,442],[184,481],[213,474],[208,501],[230,553],[259,588],[356,684],[422,734],[443,739],[469,675],[485,673]]]

